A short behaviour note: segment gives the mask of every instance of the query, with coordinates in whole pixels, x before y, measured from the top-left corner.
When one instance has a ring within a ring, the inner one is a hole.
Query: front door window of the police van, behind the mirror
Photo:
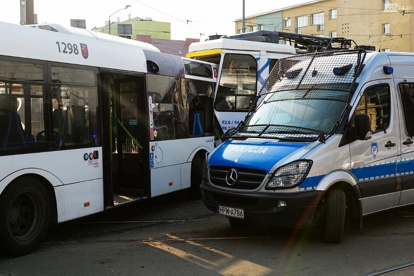
[[[384,130],[390,123],[390,89],[388,85],[365,89],[356,109],[357,114],[367,114],[373,132]]]

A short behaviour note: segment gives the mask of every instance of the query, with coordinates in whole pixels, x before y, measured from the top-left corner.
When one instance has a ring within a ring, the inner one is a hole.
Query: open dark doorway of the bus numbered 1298
[[[111,96],[114,204],[148,197],[148,109],[144,77],[115,79]]]

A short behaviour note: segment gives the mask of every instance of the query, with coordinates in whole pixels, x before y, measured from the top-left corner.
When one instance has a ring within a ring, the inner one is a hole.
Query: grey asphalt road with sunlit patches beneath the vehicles
[[[364,218],[343,242],[317,227],[234,229],[201,200],[160,197],[53,226],[32,254],[0,257],[0,275],[412,276],[414,206]]]

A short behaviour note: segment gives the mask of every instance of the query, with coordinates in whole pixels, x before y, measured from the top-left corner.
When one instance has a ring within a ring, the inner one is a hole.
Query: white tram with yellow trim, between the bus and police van
[[[221,136],[258,104],[257,92],[280,58],[307,51],[349,49],[352,43],[343,37],[257,31],[211,35],[206,41],[191,43],[187,57],[218,65],[214,108]]]

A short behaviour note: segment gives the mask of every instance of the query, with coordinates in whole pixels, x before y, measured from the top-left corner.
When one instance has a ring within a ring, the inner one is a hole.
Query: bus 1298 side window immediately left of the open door
[[[65,148],[99,145],[95,70],[59,66],[51,70],[52,142]]]

